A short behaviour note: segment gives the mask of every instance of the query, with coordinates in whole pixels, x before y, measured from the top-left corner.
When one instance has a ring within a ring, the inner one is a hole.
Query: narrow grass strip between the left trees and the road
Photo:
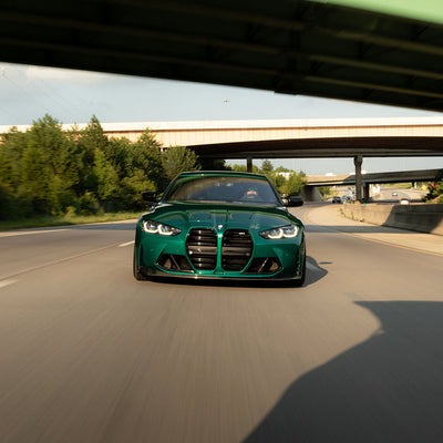
[[[84,225],[89,223],[105,223],[137,219],[140,213],[105,213],[101,215],[65,215],[63,217],[42,216],[29,217],[17,220],[0,222],[0,230],[40,228],[47,226]]]

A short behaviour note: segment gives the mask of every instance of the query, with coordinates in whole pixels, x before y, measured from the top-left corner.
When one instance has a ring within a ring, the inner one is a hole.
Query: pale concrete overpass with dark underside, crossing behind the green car
[[[85,124],[76,126],[81,130]],[[187,146],[203,158],[246,158],[249,171],[253,159],[258,158],[353,157],[356,174],[349,179],[356,182],[358,199],[362,198],[363,182],[369,183],[368,176],[363,181],[361,174],[363,157],[443,155],[443,117],[440,116],[103,123],[102,126],[107,136],[133,142],[150,128],[166,148]],[[0,126],[0,133],[8,130]]]

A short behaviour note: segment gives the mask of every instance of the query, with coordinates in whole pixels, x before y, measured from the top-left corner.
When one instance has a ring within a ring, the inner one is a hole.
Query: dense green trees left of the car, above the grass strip
[[[199,168],[183,146],[162,153],[148,128],[135,143],[109,140],[95,115],[64,132],[47,114],[25,133],[0,136],[0,220],[143,210],[142,190],[163,192],[176,174]]]

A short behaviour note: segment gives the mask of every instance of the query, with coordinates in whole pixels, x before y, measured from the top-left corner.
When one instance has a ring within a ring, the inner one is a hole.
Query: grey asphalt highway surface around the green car
[[[0,233],[0,442],[442,442],[443,237],[290,210],[302,288],[135,281],[133,223]]]

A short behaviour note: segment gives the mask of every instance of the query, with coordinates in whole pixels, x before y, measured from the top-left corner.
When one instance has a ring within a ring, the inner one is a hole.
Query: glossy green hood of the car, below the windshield
[[[214,229],[264,230],[301,222],[284,207],[227,204],[159,204],[142,216],[167,225],[188,229],[193,226]]]

